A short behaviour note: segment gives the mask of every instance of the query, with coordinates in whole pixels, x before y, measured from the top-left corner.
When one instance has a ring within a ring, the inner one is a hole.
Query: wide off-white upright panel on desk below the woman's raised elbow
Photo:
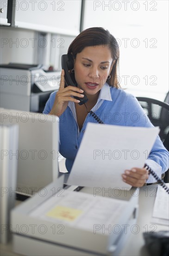
[[[2,124],[19,126],[18,151],[10,151],[9,157],[18,158],[17,194],[32,196],[59,175],[59,118],[5,108],[0,108],[0,118]]]

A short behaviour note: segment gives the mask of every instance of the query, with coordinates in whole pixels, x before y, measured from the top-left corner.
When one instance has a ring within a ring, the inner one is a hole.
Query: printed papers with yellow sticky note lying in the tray
[[[30,216],[94,231],[94,225],[108,227],[119,223],[128,205],[129,202],[123,200],[64,190],[33,210]]]

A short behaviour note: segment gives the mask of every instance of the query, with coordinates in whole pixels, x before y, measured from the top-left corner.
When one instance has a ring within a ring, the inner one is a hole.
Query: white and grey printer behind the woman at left
[[[0,107],[42,113],[52,91],[58,90],[61,72],[43,65],[0,65]]]

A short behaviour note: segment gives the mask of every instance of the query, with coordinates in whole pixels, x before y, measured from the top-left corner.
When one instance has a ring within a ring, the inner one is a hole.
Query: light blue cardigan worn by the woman
[[[55,95],[56,92],[50,94],[50,98],[44,108],[44,114],[50,113]],[[105,124],[138,127],[153,126],[133,95],[126,93],[123,89],[110,87],[108,84],[105,84],[100,90],[99,99],[94,108],[92,108],[92,111],[94,111]],[[75,104],[71,101],[69,101],[68,107],[64,113],[59,117],[60,154],[66,158],[66,168],[69,172],[71,171],[88,122],[97,121],[88,114],[81,131],[79,131]],[[156,142],[145,162],[160,177],[162,173],[168,170],[169,152],[164,148],[159,136],[156,138]],[[150,175],[148,182],[156,182],[156,180]]]

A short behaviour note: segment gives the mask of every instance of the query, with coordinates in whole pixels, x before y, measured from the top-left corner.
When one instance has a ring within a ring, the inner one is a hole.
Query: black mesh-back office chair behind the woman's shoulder
[[[137,99],[151,123],[160,127],[160,139],[169,151],[169,104],[145,97]],[[169,170],[165,172],[164,182],[169,182]]]

